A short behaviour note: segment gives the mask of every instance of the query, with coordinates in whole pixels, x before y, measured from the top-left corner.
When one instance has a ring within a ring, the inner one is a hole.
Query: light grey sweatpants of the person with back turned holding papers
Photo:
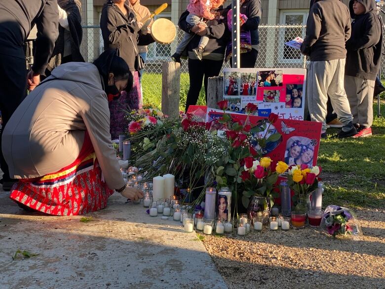
[[[326,103],[328,95],[340,121],[347,125],[353,120],[344,88],[345,58],[310,61],[308,66],[308,109],[311,121],[322,123],[326,131]]]

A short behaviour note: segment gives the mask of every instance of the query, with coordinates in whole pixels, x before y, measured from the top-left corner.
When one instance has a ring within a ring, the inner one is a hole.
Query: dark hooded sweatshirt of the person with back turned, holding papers
[[[310,61],[343,59],[349,38],[350,16],[346,5],[340,0],[320,0],[310,8],[301,52],[310,56]]]

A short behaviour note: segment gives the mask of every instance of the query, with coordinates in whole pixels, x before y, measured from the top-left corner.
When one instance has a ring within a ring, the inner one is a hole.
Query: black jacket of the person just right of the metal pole
[[[231,9],[231,5],[227,6]],[[246,0],[239,8],[239,13],[247,16],[247,21],[242,25],[242,30],[250,31],[251,44],[259,44],[258,27],[262,16],[261,0]]]

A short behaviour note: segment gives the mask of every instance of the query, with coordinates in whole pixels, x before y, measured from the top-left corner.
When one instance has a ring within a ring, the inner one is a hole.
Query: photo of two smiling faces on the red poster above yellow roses
[[[303,136],[293,136],[288,139],[285,151],[285,163],[290,165],[313,165],[314,147],[310,139]]]

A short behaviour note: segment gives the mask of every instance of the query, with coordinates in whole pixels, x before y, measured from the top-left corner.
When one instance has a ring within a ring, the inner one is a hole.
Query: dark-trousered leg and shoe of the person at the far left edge
[[[1,147],[1,136],[4,126],[26,95],[27,71],[25,60],[0,54],[0,79],[2,83],[4,83],[0,87],[0,110],[2,117],[0,131]],[[2,152],[0,153],[0,167],[3,172],[3,189],[9,191],[9,186],[12,186],[15,180],[9,176],[8,165],[5,162]],[[9,184],[6,184],[6,182],[9,182]]]

